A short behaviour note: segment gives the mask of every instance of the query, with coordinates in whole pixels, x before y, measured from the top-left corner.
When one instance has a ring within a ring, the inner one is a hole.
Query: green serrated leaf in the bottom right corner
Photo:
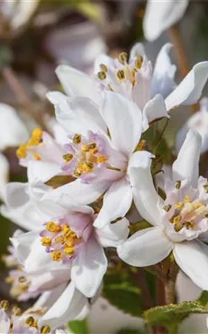
[[[151,326],[165,326],[169,333],[176,333],[177,326],[192,313],[208,313],[208,292],[202,292],[196,301],[184,301],[184,303],[170,304],[150,308],[144,312],[146,322]]]

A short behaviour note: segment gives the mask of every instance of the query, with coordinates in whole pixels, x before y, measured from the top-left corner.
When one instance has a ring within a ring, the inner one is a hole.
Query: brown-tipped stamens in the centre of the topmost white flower
[[[106,65],[100,64],[100,72],[98,72],[97,77],[107,90],[116,90],[115,83],[123,84],[129,82],[132,86],[137,84],[135,74],[141,69],[143,57],[137,56],[131,63],[128,63],[127,60],[128,55],[125,52],[119,54],[119,59],[114,64],[113,71],[110,71]]]

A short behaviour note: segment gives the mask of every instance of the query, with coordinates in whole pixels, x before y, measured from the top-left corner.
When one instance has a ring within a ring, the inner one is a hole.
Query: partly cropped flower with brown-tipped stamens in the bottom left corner
[[[43,308],[29,308],[21,312],[20,308],[14,307],[8,310],[8,301],[0,303],[0,331],[3,334],[21,333],[21,334],[64,334],[64,331],[51,331],[49,325],[39,326],[38,319],[45,312]]]

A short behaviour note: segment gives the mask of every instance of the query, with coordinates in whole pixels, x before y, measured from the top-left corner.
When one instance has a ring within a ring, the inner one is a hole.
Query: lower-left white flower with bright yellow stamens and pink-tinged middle
[[[107,270],[103,247],[118,246],[129,232],[126,218],[98,230],[93,227],[96,214],[91,207],[71,211],[70,202],[69,207],[70,210],[59,207],[58,216],[49,218],[39,231],[12,238],[15,255],[23,264],[24,272],[30,278],[33,276],[33,280],[34,276],[37,278],[32,291],[34,285],[35,291],[38,285],[40,291],[44,285],[51,289],[66,284],[40,320],[51,327],[60,326],[83,312],[88,305],[86,297],[96,295]]]

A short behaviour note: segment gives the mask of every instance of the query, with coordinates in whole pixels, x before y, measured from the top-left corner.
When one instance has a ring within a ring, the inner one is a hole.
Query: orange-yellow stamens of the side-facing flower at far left
[[[42,145],[42,129],[34,129],[31,138],[27,143],[19,145],[17,149],[17,158],[25,159],[28,156],[28,152],[31,153],[31,156],[35,160],[41,160],[40,155],[34,152],[33,148]]]

